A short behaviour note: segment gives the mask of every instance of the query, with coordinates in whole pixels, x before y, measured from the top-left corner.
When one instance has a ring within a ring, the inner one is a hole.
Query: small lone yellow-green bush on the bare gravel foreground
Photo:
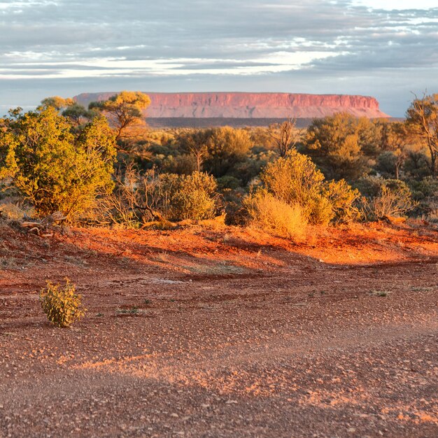
[[[85,315],[82,309],[82,296],[77,295],[76,286],[66,278],[64,286],[47,282],[41,289],[41,307],[48,320],[57,327],[70,327],[76,320]]]

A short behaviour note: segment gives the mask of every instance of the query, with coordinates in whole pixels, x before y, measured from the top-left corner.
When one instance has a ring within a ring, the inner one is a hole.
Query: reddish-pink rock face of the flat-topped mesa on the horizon
[[[87,106],[115,92],[83,93],[75,97]],[[346,112],[356,117],[386,118],[374,97],[348,94],[246,92],[151,93],[145,111],[150,118],[322,118]]]

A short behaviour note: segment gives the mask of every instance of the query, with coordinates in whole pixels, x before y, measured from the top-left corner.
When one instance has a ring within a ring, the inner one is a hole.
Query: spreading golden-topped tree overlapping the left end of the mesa
[[[127,129],[143,125],[143,110],[150,105],[150,98],[142,92],[122,91],[105,101],[91,102],[89,110],[97,110],[115,127],[115,139],[126,135]]]

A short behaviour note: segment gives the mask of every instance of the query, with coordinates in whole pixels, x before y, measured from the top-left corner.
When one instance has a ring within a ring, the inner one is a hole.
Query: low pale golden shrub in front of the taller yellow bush
[[[285,204],[264,189],[258,189],[243,199],[250,223],[278,236],[302,239],[307,220],[299,204]]]

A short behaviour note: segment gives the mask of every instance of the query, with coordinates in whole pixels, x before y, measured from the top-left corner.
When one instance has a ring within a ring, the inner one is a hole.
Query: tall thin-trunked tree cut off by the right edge
[[[438,94],[415,96],[407,110],[406,126],[408,131],[421,139],[430,154],[430,173],[437,177],[438,157]]]

